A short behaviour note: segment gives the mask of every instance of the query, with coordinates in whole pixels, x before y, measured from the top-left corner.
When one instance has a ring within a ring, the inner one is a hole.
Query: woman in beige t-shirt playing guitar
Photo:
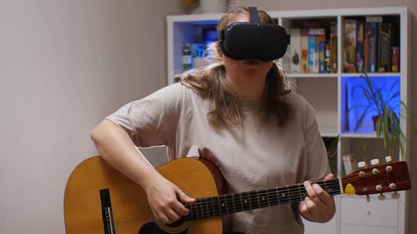
[[[258,11],[261,23],[274,23]],[[247,8],[225,14],[218,30],[249,22]],[[91,137],[105,161],[143,187],[155,215],[173,223],[192,203],[160,176],[136,146],[168,146],[169,160],[208,159],[223,173],[229,192],[303,183],[309,197],[233,214],[233,230],[243,233],[303,233],[300,215],[327,222],[334,199],[309,180],[330,179],[327,153],[310,104],[294,92],[276,61],[235,60],[219,42],[212,63],[182,74],[180,82],[123,106],[93,129]]]

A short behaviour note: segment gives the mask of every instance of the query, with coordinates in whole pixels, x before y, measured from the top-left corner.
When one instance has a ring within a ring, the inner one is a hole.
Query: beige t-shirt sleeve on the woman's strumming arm
[[[122,106],[107,119],[126,130],[137,147],[168,146],[175,142],[183,89],[179,83],[169,85]]]

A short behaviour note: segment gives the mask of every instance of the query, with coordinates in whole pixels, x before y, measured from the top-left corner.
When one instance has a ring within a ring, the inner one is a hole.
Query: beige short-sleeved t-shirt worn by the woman
[[[329,173],[327,153],[312,106],[294,92],[283,96],[294,118],[283,127],[257,125],[259,103],[244,103],[240,128],[214,128],[209,100],[176,83],[133,101],[107,119],[124,128],[138,147],[168,146],[168,159],[201,156],[215,164],[229,192],[303,183]],[[208,152],[211,152],[209,154]],[[242,211],[232,215],[242,233],[303,233],[297,205]]]

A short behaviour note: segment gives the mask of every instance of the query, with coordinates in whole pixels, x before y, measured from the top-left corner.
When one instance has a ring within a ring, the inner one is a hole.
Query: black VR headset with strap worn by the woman
[[[218,32],[225,56],[235,59],[271,61],[282,58],[290,44],[290,35],[280,25],[259,23],[257,8],[249,7],[249,23],[232,23]]]

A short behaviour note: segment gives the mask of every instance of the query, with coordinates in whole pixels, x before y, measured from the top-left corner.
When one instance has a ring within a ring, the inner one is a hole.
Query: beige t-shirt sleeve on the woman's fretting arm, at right
[[[306,107],[305,147],[307,150],[307,173],[305,180],[323,179],[330,173],[327,149],[319,133],[315,110],[310,104]]]

